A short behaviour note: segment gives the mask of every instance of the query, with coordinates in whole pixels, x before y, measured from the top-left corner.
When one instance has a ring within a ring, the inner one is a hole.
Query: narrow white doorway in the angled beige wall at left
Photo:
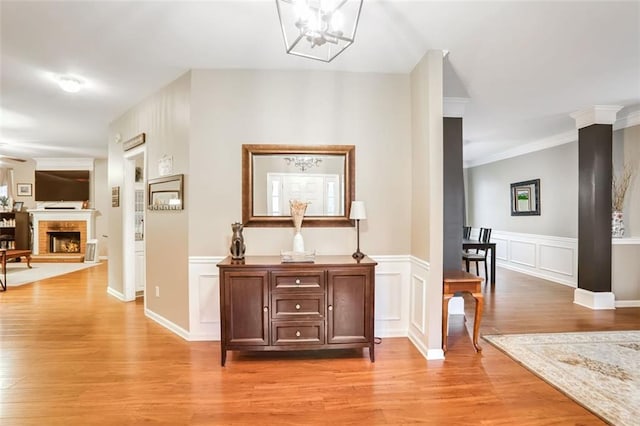
[[[122,194],[124,296],[126,301],[143,298],[146,307],[145,183],[146,150],[138,146],[124,155]]]

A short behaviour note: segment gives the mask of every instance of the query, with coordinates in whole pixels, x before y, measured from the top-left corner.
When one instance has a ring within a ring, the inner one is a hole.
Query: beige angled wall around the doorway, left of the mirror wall
[[[116,134],[126,141],[146,134],[145,176],[158,177],[158,161],[173,157],[173,173],[185,174],[189,183],[189,120],[191,73],[186,73],[153,96],[127,111],[109,126],[108,194],[111,187],[123,187],[123,150]],[[145,218],[146,306],[150,311],[188,330],[188,228],[189,209],[149,211]],[[122,206],[122,200],[120,205]],[[109,287],[123,293],[122,207],[109,207]],[[160,287],[160,297],[155,287]]]

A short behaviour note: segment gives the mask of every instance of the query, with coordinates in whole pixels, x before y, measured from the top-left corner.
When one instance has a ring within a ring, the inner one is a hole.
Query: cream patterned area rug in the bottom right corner
[[[484,339],[606,422],[640,421],[640,331]]]

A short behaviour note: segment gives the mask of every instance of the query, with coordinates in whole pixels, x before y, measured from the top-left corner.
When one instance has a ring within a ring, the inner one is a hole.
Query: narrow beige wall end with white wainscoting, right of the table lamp
[[[411,254],[429,267],[428,276],[419,276],[421,267],[412,271],[413,315],[420,311],[422,319],[412,318],[410,334],[427,351],[442,347],[442,66],[442,51],[431,50],[411,72]]]

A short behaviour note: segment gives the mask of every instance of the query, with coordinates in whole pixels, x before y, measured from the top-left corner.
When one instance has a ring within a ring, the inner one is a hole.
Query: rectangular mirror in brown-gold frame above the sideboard
[[[353,226],[353,145],[242,145],[242,222],[292,226],[290,200],[309,202],[303,227]]]

